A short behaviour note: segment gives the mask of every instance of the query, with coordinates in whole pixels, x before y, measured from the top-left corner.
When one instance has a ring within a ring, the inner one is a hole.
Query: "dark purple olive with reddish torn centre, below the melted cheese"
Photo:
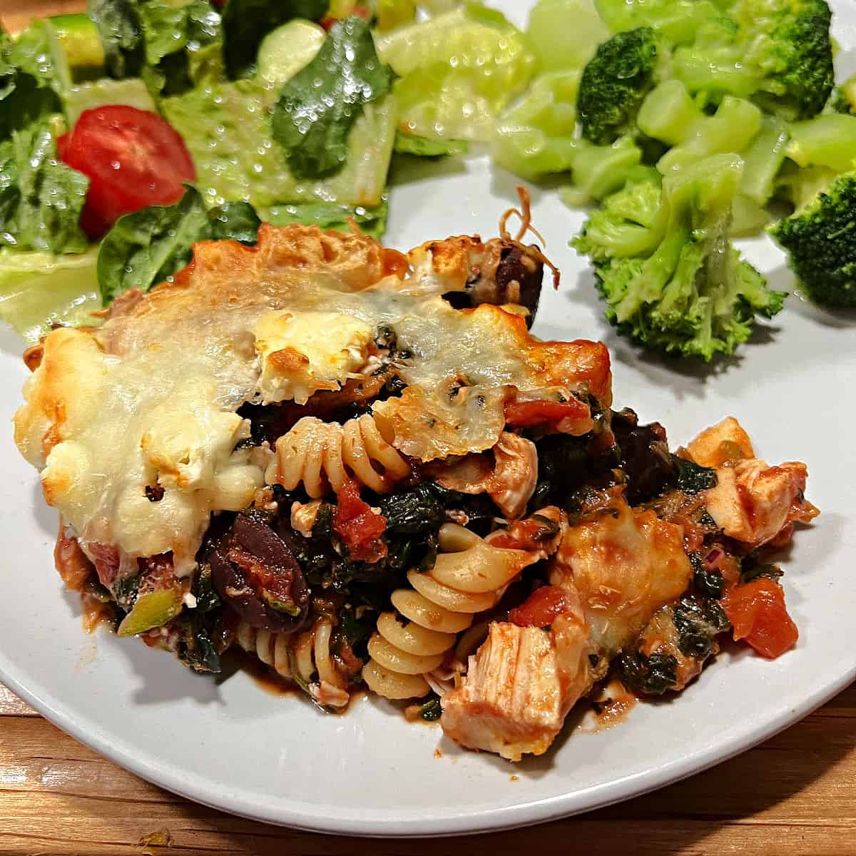
[[[238,514],[210,561],[217,593],[248,624],[272,633],[306,625],[309,586],[291,550],[264,521]]]

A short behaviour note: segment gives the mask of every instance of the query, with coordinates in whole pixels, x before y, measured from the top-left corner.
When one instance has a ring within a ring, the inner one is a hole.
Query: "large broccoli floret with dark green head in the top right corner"
[[[738,0],[731,15],[675,51],[675,76],[693,93],[752,96],[790,120],[823,110],[835,85],[829,3]]]

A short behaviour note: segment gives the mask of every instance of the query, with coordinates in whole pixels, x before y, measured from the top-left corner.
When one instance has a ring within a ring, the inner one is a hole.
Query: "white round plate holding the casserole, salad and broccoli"
[[[520,6],[528,4],[496,5],[524,23]],[[856,45],[856,9],[846,0],[837,9],[843,54]],[[839,65],[849,73],[847,58]],[[514,199],[513,177],[491,175],[484,158],[460,170],[426,165],[421,175],[395,187],[391,246],[495,235]],[[582,215],[555,193],[534,197],[534,222],[563,273],[562,289],[544,294],[540,336],[607,342],[616,405],[662,421],[672,443],[734,413],[761,455],[808,463],[808,496],[823,514],[797,533],[785,562],[788,607],[800,627],[794,651],[772,663],[749,651],[722,656],[675,701],[640,704],[609,731],[564,734],[544,757],[516,766],[462,752],[438,728],[410,725],[381,700],[324,716],[302,699],[265,693],[247,675],[217,684],[139,642],[86,637],[77,598],[62,591],[52,567],[56,514],[7,436],[0,679],[68,733],[164,788],[247,817],[351,835],[502,829],[624,800],[743,751],[852,681],[853,317],[835,320],[792,296],[740,357],[710,371],[644,356],[603,321],[591,273],[567,247]],[[749,256],[777,288],[792,287],[768,242],[753,244]],[[15,336],[4,335],[0,347],[0,411],[8,420],[27,372]]]

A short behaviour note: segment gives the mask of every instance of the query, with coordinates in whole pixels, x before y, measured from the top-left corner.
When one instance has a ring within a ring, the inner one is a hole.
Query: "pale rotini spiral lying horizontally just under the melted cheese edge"
[[[303,484],[313,499],[338,490],[348,479],[385,493],[410,474],[410,465],[381,437],[369,413],[344,425],[305,416],[276,441],[276,460],[265,479],[294,490]]]

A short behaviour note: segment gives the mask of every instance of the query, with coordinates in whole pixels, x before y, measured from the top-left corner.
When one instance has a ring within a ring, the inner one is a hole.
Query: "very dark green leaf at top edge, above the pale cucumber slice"
[[[259,45],[267,33],[292,18],[319,21],[329,0],[229,0],[223,9],[223,54],[231,80],[255,71]]]

